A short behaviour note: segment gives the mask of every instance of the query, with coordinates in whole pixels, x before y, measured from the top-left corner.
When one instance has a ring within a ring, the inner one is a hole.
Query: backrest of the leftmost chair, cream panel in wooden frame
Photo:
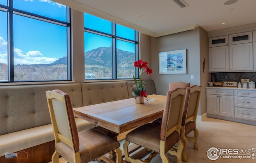
[[[78,131],[69,95],[55,89],[46,91],[46,97],[54,130],[55,145],[61,140],[75,153],[78,152]]]

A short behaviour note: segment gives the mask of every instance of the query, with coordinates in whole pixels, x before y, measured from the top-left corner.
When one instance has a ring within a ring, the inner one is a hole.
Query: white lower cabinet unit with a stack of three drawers
[[[234,91],[235,117],[256,121],[256,91]]]

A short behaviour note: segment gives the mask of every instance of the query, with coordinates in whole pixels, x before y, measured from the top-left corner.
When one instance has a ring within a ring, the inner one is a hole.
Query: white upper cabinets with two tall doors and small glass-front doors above
[[[256,70],[256,54],[255,57],[253,56],[256,53],[253,53],[253,46],[256,45],[252,43],[252,34],[250,31],[229,35],[228,39],[227,36],[209,38],[209,72]],[[222,40],[222,42],[218,41],[220,43],[217,44],[218,42],[214,42],[215,40]],[[229,40],[229,46],[226,46],[226,40]]]

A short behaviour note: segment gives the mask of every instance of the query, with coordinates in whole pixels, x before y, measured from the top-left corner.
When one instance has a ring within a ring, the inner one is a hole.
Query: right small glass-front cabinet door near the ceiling
[[[252,31],[229,35],[229,44],[244,44],[252,42]]]

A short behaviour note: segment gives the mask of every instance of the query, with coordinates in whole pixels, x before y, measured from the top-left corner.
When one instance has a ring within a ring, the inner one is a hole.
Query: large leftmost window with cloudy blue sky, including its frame
[[[71,80],[70,9],[50,0],[0,3],[0,81]]]

